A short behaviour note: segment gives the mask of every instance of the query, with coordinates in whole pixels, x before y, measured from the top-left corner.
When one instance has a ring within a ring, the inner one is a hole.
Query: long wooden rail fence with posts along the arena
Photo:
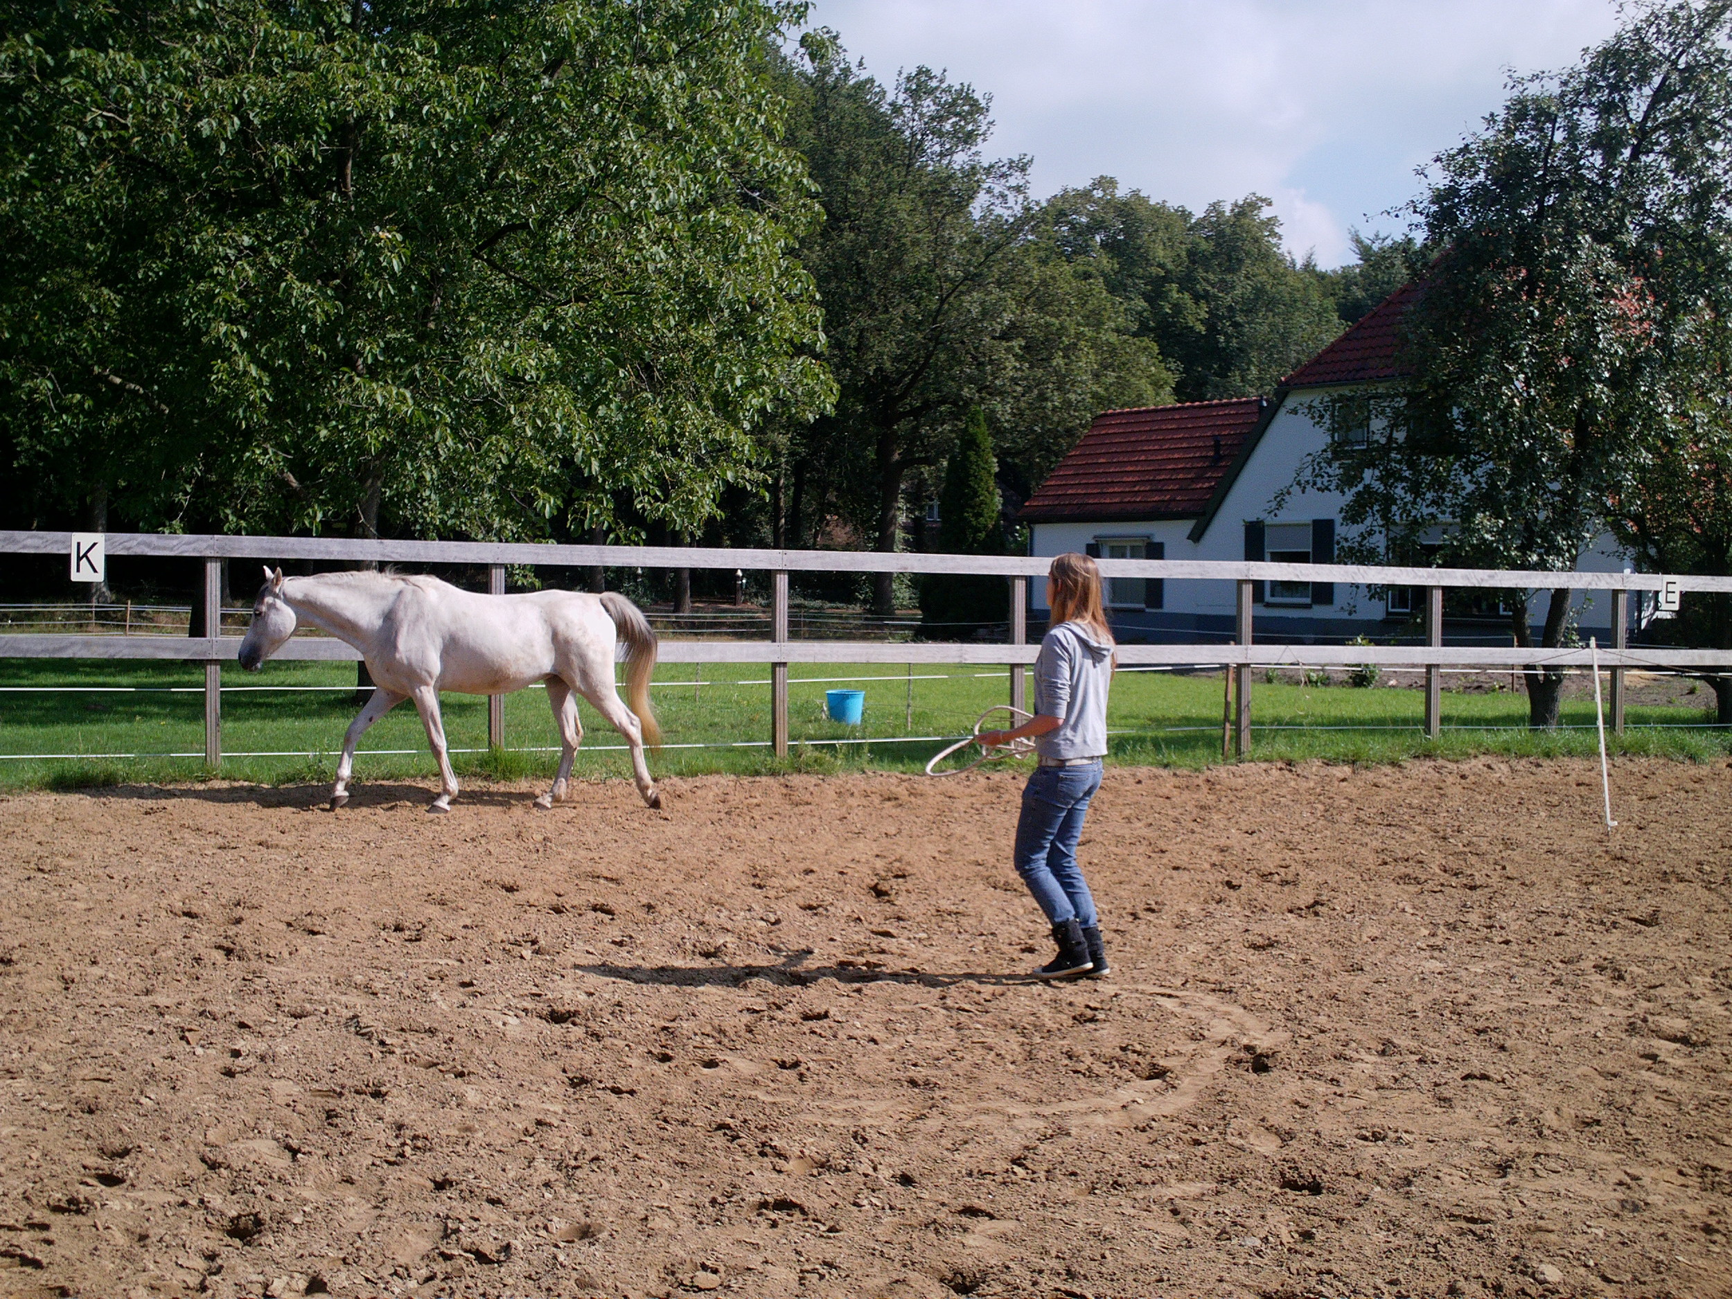
[[[417,542],[352,540],[327,537],[194,537],[163,533],[107,533],[109,556],[154,556],[197,559],[204,565],[204,627],[222,627],[223,559],[315,559],[326,563],[485,565],[487,589],[506,589],[506,568],[721,568],[767,572],[771,575],[769,641],[663,641],[665,663],[767,663],[771,669],[771,743],[778,757],[788,753],[788,665],[790,663],[987,663],[1010,667],[1010,703],[1027,707],[1024,670],[1037,646],[1027,644],[1029,578],[1044,577],[1051,563],[1043,558],[975,554],[878,554],[871,551],[771,551],[696,549],[674,546],[553,546],[523,542]],[[69,532],[0,532],[0,554],[71,554]],[[1611,722],[1623,731],[1623,674],[1626,669],[1732,669],[1729,650],[1658,650],[1626,644],[1628,598],[1632,591],[1661,591],[1668,582],[1678,591],[1732,592],[1732,577],[1677,577],[1656,573],[1557,573],[1479,568],[1398,568],[1363,565],[1211,563],[1200,559],[1098,559],[1103,577],[1141,577],[1199,582],[1235,582],[1237,618],[1233,644],[1124,644],[1124,667],[1225,665],[1231,670],[1231,748],[1251,750],[1251,675],[1270,667],[1358,667],[1425,669],[1425,734],[1441,733],[1441,670],[1450,667],[1543,669],[1588,667],[1587,648],[1522,650],[1516,646],[1444,646],[1443,592],[1446,589],[1609,591],[1612,596],[1612,644],[1599,648],[1599,663],[1611,675]],[[883,643],[883,641],[792,641],[788,637],[788,573],[975,573],[1010,582],[1010,641],[979,643]],[[1361,587],[1420,587],[1425,591],[1424,646],[1361,644],[1257,644],[1252,627],[1256,582],[1339,582]],[[178,658],[204,663],[204,760],[222,762],[222,679],[225,660],[236,658],[237,636],[0,636],[0,658]],[[275,658],[357,660],[343,641],[291,637]],[[488,700],[487,738],[504,746],[504,701]]]

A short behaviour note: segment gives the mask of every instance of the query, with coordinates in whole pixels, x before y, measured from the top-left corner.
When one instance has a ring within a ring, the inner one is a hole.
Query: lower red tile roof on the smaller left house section
[[[1098,414],[1018,518],[1197,518],[1266,405],[1261,397],[1244,397]]]

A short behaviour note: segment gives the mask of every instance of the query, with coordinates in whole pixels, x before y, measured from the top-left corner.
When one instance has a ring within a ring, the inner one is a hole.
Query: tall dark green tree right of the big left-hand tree
[[[911,475],[942,462],[970,407],[1032,414],[1039,436],[1074,440],[1093,414],[1084,400],[1164,388],[1155,350],[1129,338],[1098,282],[1034,248],[1029,161],[984,156],[986,97],[928,68],[887,90],[828,31],[802,38],[788,85],[790,140],[824,208],[802,258],[838,383],[835,412],[790,449],[792,513],[821,501],[812,514],[833,507],[894,551]],[[873,606],[894,611],[889,573]]]

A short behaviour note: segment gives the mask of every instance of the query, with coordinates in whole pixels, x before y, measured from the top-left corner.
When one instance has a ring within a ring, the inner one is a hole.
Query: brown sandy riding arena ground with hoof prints
[[[0,802],[0,1296],[1725,1296],[1732,769]]]

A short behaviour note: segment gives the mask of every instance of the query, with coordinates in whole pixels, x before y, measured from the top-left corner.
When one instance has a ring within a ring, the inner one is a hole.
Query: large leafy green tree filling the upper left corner
[[[695,527],[831,386],[798,5],[42,5],[0,43],[12,464],[147,527]]]

